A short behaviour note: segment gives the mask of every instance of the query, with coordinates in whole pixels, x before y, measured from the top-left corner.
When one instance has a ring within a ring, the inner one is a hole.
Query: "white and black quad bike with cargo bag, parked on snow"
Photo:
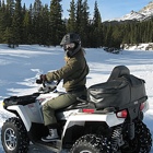
[[[87,89],[87,98],[56,111],[60,139],[43,142],[48,136],[43,105],[64,94],[55,82],[44,82],[37,93],[11,96],[3,108],[13,113],[2,126],[1,141],[7,153],[26,153],[30,142],[38,148],[70,153],[149,153],[151,133],[143,123],[149,109],[144,81],[130,74],[125,66],[115,67],[107,82]],[[61,102],[62,103],[62,102]]]

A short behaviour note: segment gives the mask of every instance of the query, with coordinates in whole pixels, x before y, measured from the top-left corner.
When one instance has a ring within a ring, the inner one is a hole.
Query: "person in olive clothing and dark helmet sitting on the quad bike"
[[[54,81],[63,79],[66,94],[48,101],[43,106],[45,126],[49,129],[49,136],[42,138],[43,141],[49,142],[58,139],[57,129],[59,127],[55,117],[55,110],[67,107],[76,102],[76,97],[86,97],[86,75],[89,66],[84,57],[84,50],[81,47],[80,36],[75,33],[68,33],[63,36],[60,45],[63,47],[66,64],[54,72],[42,74],[42,81]]]

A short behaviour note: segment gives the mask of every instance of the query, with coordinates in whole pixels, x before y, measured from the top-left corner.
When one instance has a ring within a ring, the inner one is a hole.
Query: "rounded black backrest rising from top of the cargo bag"
[[[126,66],[117,66],[113,69],[107,81],[115,80],[126,74],[130,74],[130,70]]]

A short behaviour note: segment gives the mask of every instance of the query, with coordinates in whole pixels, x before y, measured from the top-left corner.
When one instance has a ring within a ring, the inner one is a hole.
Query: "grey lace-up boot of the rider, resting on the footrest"
[[[47,137],[42,138],[42,141],[44,142],[50,142],[55,141],[55,139],[58,139],[58,132],[57,129],[49,129],[49,134]]]

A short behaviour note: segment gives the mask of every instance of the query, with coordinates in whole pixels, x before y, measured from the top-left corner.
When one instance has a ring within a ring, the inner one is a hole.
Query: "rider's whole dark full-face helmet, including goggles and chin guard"
[[[66,34],[60,43],[60,46],[63,46],[63,49],[68,57],[74,56],[81,49],[81,39],[79,34]]]

